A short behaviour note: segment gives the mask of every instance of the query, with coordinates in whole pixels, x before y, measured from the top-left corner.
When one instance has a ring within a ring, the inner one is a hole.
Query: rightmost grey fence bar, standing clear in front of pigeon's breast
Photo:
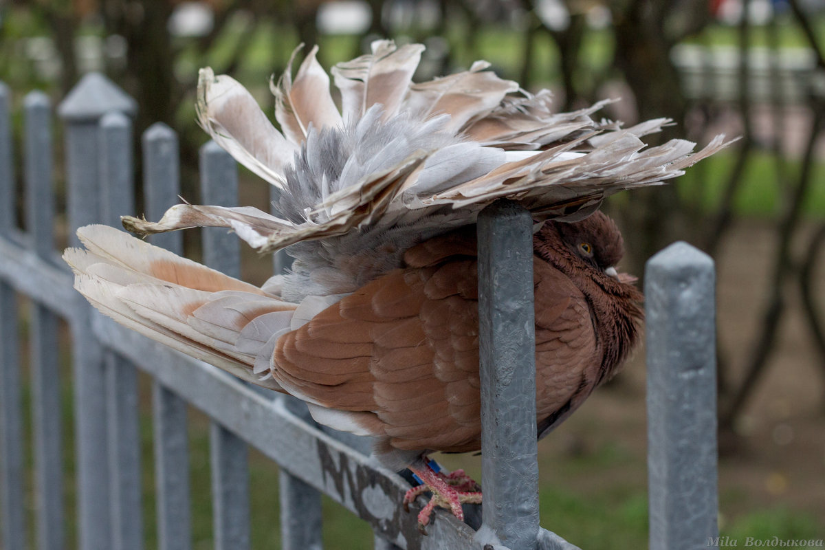
[[[719,536],[714,262],[685,242],[645,269],[651,550]]]

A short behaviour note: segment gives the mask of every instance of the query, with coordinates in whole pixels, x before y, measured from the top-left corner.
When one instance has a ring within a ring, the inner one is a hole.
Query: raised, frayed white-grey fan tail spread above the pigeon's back
[[[671,120],[626,129],[594,120],[612,100],[557,113],[549,92],[526,92],[483,61],[413,83],[422,49],[378,40],[371,54],[332,68],[340,114],[317,47],[294,80],[290,60],[271,86],[283,135],[238,82],[204,69],[201,124],[239,162],[281,187],[279,215],[180,204],[157,223],[125,217],[125,227],[145,234],[216,226],[259,251],[295,245],[290,254],[300,275],[281,280],[285,293],[334,294],[357,288],[359,274],[398,266],[397,252],[396,264],[365,258],[375,263],[367,269],[344,257],[382,244],[381,235],[411,246],[422,235],[474,223],[500,198],[519,201],[536,221],[583,219],[604,197],[661,184],[731,143],[719,136],[696,153],[695,143],[682,139],[648,147],[642,138]],[[334,283],[318,283],[317,274]],[[347,277],[349,285],[342,283]]]

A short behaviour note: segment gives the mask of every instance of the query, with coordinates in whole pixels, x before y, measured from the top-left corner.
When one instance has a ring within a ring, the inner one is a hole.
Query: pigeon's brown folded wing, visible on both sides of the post
[[[376,436],[394,449],[477,450],[474,234],[460,230],[435,237],[405,259],[406,268],[373,280],[281,336],[273,375],[310,403],[316,420],[334,428]],[[576,392],[582,369],[597,366],[596,346],[582,293],[539,258],[535,273],[542,293],[536,356],[540,369],[561,373],[540,387],[540,412],[546,416]],[[567,342],[569,349],[554,350]],[[563,372],[569,354],[572,373]]]

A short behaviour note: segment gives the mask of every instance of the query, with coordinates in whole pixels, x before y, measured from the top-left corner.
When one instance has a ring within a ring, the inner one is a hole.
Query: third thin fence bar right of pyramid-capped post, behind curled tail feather
[[[200,148],[200,196],[204,204],[238,204],[238,167],[214,141]],[[240,242],[224,228],[203,228],[204,263],[240,277]],[[217,422],[210,426],[214,548],[249,548],[247,444]]]

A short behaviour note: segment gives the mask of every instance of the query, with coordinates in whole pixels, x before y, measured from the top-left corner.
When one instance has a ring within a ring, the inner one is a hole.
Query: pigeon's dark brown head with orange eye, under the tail
[[[535,235],[535,247],[552,263],[563,259],[580,266],[583,262],[614,279],[619,279],[615,266],[625,254],[619,228],[598,210],[578,222],[545,223]]]

